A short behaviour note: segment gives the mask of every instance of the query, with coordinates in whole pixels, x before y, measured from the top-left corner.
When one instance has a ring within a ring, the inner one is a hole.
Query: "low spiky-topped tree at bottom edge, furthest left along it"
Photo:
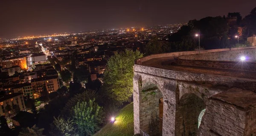
[[[44,128],[39,129],[35,125],[32,128],[21,128],[19,136],[44,136],[43,135]]]

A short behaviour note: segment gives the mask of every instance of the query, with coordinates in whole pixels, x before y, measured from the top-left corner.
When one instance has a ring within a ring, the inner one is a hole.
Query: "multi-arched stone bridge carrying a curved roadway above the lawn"
[[[256,135],[255,47],[146,56],[133,84],[134,134]]]

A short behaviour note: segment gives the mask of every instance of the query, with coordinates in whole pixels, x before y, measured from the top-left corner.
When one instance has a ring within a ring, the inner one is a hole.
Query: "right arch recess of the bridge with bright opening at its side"
[[[199,115],[206,108],[204,100],[194,93],[185,93],[176,105],[175,136],[197,136]],[[203,115],[201,115],[203,117]]]

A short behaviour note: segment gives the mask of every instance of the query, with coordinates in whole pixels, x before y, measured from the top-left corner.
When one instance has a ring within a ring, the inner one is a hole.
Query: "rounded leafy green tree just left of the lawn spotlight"
[[[95,103],[94,99],[88,102],[79,101],[73,107],[73,114],[73,119],[80,136],[92,136],[100,129],[99,126],[102,124],[103,112],[102,107]]]

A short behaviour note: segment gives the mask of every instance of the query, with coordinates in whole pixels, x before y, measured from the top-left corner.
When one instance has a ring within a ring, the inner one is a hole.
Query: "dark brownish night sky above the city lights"
[[[240,12],[256,0],[0,0],[0,38],[172,24]]]

